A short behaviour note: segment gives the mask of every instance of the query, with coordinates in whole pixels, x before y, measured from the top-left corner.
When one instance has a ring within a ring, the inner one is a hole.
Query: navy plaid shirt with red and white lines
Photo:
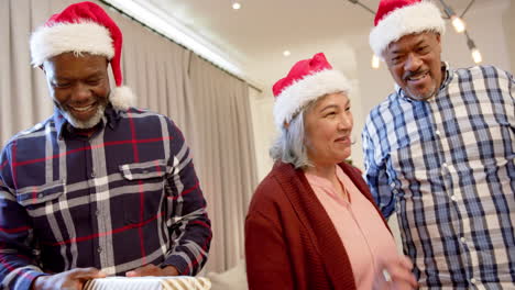
[[[4,147],[0,289],[29,289],[42,271],[154,264],[195,275],[206,263],[210,221],[180,131],[111,107],[100,126],[81,136],[56,110]]]

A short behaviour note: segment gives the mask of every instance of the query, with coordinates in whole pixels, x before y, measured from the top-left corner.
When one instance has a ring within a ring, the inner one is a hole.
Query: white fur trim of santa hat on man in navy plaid
[[[95,22],[56,23],[41,26],[31,36],[32,65],[37,67],[50,57],[76,52],[114,56],[109,30]]]

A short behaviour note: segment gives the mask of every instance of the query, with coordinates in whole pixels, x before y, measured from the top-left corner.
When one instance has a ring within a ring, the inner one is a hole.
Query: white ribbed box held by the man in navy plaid
[[[209,290],[211,282],[202,277],[107,277],[86,282],[84,290]]]

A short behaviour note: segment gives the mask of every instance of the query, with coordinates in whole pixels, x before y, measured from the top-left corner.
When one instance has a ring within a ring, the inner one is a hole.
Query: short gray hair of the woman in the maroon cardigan
[[[311,166],[307,156],[306,131],[304,129],[304,114],[316,101],[309,102],[292,118],[287,126],[282,126],[280,135],[270,148],[270,156],[274,161],[292,164],[295,168]]]

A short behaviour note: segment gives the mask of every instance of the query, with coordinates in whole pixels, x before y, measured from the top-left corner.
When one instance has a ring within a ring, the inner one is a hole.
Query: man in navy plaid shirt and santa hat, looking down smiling
[[[210,221],[189,149],[169,119],[128,107],[121,45],[91,2],[31,37],[55,111],[0,155],[0,289],[196,275],[207,260]]]

